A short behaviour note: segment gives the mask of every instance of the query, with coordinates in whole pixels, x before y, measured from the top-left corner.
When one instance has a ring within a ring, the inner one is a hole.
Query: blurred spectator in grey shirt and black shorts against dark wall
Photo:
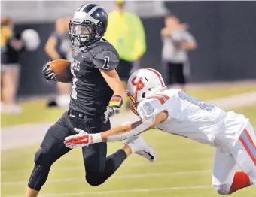
[[[169,85],[178,83],[180,89],[186,91],[184,66],[188,64],[187,50],[194,50],[197,43],[187,31],[187,25],[181,24],[174,15],[166,17],[161,35],[163,38],[162,58],[168,68],[168,83]]]

